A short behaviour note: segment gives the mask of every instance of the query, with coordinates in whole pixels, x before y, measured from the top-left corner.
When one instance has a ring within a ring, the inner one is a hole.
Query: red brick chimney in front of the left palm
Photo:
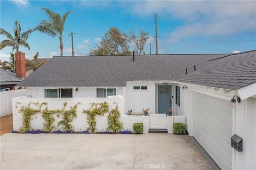
[[[23,52],[15,53],[15,72],[21,79],[26,78],[26,59]]]

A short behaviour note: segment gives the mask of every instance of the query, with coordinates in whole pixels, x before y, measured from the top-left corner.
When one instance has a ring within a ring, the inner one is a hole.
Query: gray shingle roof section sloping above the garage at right
[[[237,90],[256,82],[256,50],[227,55],[188,69],[176,81]]]

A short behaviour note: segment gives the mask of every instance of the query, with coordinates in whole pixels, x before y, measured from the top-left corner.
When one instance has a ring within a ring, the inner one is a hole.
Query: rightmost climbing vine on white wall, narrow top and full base
[[[108,127],[107,130],[117,133],[121,130],[123,130],[123,123],[119,120],[121,114],[119,112],[118,105],[116,104],[116,107],[111,109],[111,111],[108,114]]]

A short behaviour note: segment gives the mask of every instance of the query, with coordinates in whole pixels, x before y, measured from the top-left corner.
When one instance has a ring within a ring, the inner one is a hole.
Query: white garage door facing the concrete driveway
[[[230,101],[193,93],[193,137],[221,169],[232,168]]]

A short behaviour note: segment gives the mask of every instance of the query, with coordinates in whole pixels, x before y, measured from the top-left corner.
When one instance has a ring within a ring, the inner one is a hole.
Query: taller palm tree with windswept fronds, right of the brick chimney
[[[44,32],[51,37],[59,37],[60,55],[63,56],[62,33],[64,31],[66,18],[71,11],[68,11],[61,17],[59,13],[53,12],[47,8],[42,8],[42,10],[44,10],[44,12],[48,15],[49,20],[41,21],[35,30]]]

